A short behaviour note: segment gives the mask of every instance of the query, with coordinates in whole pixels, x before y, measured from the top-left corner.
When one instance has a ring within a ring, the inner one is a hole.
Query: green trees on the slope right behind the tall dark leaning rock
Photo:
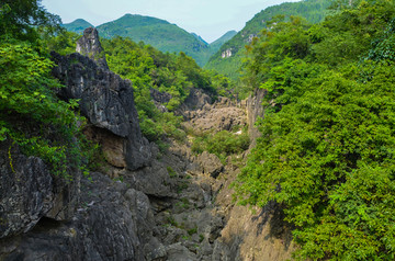
[[[151,141],[160,140],[165,134],[178,139],[184,137],[180,130],[182,118],[174,116],[173,111],[191,88],[203,89],[215,98],[218,93],[225,94],[229,86],[225,77],[203,70],[183,53],[163,54],[122,37],[103,39],[102,44],[110,69],[133,82],[142,132]],[[168,112],[157,109],[150,94],[153,89],[171,95],[169,102],[162,104]]]

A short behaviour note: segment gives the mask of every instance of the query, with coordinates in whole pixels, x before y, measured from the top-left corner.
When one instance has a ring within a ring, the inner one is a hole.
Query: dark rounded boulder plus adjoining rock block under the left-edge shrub
[[[66,182],[44,161],[0,143],[0,239],[31,230],[42,217],[70,218],[78,202],[79,173]]]

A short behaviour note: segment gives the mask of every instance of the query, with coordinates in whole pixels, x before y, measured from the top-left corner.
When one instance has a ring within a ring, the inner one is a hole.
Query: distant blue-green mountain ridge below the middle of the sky
[[[82,33],[84,27],[92,26],[89,22],[78,19],[69,24],[64,24],[68,31]],[[225,43],[232,33],[225,34],[214,45],[210,45],[195,33],[171,24],[166,20],[145,16],[139,14],[125,14],[122,18],[99,25],[101,37],[112,38],[115,36],[131,37],[134,42],[143,41],[161,52],[180,53],[194,58],[200,66],[204,66],[210,57],[215,54],[221,43]],[[234,32],[234,31],[233,31]],[[224,41],[225,39],[225,41]]]

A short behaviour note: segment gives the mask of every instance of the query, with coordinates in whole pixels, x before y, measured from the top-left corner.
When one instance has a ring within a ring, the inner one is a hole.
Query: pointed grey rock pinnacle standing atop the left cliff
[[[88,27],[83,31],[82,37],[77,42],[76,52],[93,59],[103,69],[109,69],[97,29]]]

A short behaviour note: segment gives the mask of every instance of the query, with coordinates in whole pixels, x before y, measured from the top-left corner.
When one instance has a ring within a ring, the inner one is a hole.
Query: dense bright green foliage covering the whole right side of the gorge
[[[249,49],[267,113],[238,195],[280,203],[303,260],[395,258],[395,5],[352,3],[278,20]]]

